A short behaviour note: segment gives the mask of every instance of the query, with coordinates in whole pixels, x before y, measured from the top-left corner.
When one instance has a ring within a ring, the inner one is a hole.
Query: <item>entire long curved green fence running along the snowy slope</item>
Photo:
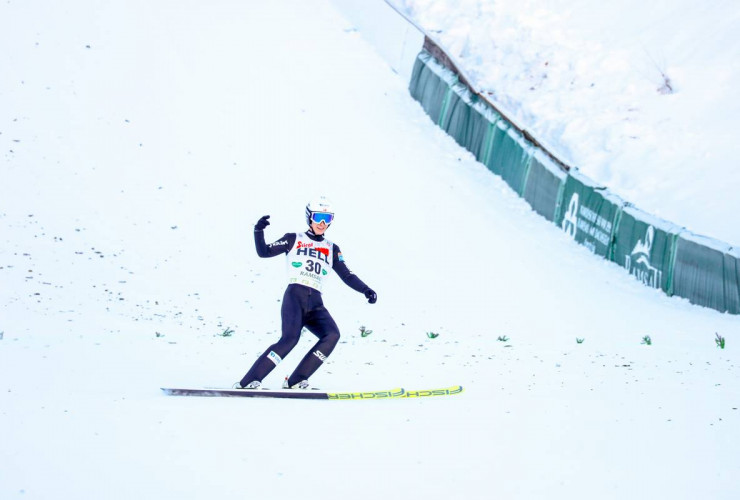
[[[740,314],[740,249],[653,217],[575,169],[566,172],[426,50],[409,92],[458,144],[578,243],[648,286]]]

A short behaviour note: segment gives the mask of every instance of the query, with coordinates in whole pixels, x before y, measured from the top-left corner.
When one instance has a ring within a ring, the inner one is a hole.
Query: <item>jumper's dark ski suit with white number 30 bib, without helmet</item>
[[[298,344],[305,327],[319,340],[288,377],[288,384],[292,387],[302,380],[308,380],[339,342],[339,328],[321,298],[326,279],[335,272],[344,283],[360,293],[365,293],[370,287],[349,270],[339,246],[310,230],[287,233],[268,245],[264,231],[255,229],[254,243],[260,257],[286,256],[288,287],[280,310],[280,340],[257,358],[240,384],[245,387],[255,380],[261,382]]]

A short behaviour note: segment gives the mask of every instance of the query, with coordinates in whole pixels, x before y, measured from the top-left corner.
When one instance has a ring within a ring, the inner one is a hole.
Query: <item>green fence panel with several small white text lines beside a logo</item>
[[[596,255],[611,257],[614,230],[625,202],[604,186],[571,170],[556,224]]]

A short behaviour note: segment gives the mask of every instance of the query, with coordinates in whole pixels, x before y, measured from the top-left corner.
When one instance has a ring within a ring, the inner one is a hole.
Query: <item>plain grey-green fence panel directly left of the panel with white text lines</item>
[[[567,176],[568,174],[550,157],[541,151],[535,151],[529,164],[522,196],[535,212],[549,221],[554,221],[560,200],[562,200]]]

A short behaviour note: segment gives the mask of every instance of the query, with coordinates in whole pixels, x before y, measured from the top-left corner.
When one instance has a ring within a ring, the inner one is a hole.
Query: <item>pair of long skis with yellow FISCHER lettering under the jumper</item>
[[[283,399],[330,399],[330,400],[355,400],[355,399],[403,399],[422,398],[430,396],[450,396],[460,394],[463,388],[460,385],[442,389],[425,389],[407,391],[402,388],[387,391],[365,391],[365,392],[322,392],[317,390],[299,389],[187,389],[162,387],[162,392],[168,396],[200,396],[220,398],[283,398]]]

